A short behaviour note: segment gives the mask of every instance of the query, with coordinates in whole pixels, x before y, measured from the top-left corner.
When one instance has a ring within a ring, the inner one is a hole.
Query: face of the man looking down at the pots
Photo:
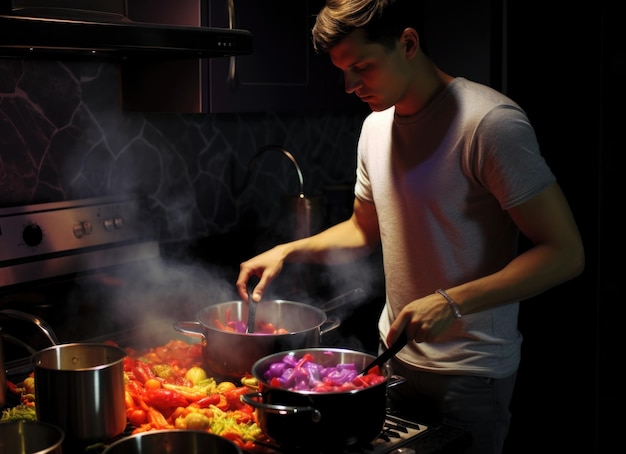
[[[329,55],[343,71],[346,92],[355,93],[373,111],[385,110],[406,95],[410,71],[402,46],[389,50],[367,42],[363,30],[355,30]]]

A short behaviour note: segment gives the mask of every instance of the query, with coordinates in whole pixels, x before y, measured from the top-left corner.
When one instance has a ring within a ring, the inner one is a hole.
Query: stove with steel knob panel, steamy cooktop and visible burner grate
[[[164,254],[141,198],[102,197],[0,209],[0,327],[9,378],[54,343],[123,347],[191,341],[174,322],[237,299],[231,269]],[[333,338],[333,346],[342,346]],[[10,404],[11,402],[9,402]],[[15,403],[15,402],[14,402]],[[380,436],[348,453],[462,452],[466,434],[387,414]],[[278,454],[280,446],[258,444]]]

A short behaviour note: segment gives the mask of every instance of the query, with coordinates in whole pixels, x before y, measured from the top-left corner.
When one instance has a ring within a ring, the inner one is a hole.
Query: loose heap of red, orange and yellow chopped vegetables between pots
[[[241,401],[241,395],[251,389],[207,377],[201,367],[201,348],[171,341],[134,357],[135,362],[127,361],[124,367],[126,415],[135,426],[132,433],[206,430],[244,450],[254,450],[257,440],[266,441],[255,410]]]

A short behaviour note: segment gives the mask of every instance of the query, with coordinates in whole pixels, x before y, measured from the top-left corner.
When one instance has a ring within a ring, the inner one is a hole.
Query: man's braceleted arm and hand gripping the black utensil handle
[[[528,299],[582,273],[585,253],[569,205],[557,183],[509,210],[532,246],[501,270],[444,289],[462,315]],[[406,332],[409,339],[429,341],[453,321],[446,298],[426,295],[405,306],[393,322],[387,342]]]

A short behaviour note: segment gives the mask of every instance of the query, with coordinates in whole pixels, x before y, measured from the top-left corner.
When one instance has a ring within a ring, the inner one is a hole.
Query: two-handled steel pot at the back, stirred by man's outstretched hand
[[[337,328],[341,321],[323,310],[304,303],[264,300],[258,303],[257,326],[272,323],[287,334],[237,333],[220,329],[216,321],[248,319],[248,305],[227,301],[208,306],[196,314],[197,321],[174,323],[174,329],[201,337],[203,360],[213,375],[239,380],[252,370],[255,361],[272,353],[294,348],[316,347],[322,336]]]

